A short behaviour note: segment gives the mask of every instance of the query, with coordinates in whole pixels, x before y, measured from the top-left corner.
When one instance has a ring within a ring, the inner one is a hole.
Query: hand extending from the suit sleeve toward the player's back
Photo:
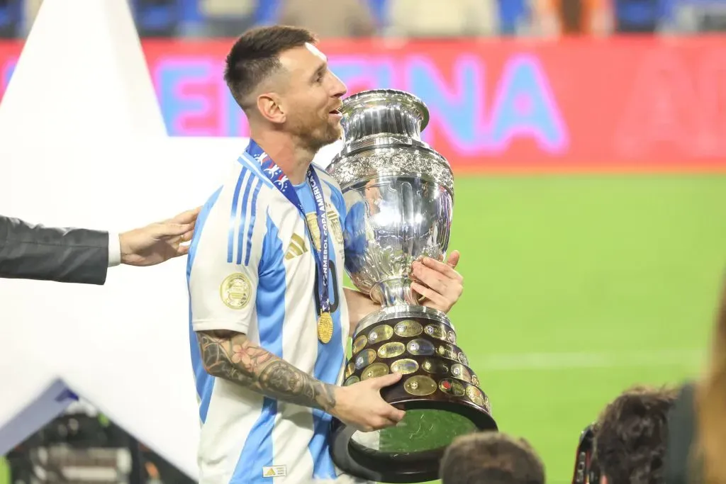
[[[151,223],[141,229],[123,232],[121,263],[129,266],[155,266],[171,258],[187,255],[189,242],[201,207],[179,213],[174,218]]]

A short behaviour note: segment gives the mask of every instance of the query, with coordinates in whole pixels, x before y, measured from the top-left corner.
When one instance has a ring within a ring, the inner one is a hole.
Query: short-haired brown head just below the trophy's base
[[[443,484],[544,484],[544,464],[524,439],[477,432],[454,439],[439,476]]]

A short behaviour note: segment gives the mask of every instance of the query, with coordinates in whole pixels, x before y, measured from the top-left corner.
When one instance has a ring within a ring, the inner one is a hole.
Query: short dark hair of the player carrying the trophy
[[[229,50],[224,68],[224,81],[237,104],[248,108],[247,97],[282,67],[281,52],[315,42],[314,33],[287,25],[258,27],[243,33]]]

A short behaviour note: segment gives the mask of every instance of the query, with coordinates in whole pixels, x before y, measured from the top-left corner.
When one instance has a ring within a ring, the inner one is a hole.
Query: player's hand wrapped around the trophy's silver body
[[[460,253],[452,251],[446,262],[429,257],[412,264],[411,289],[423,296],[422,305],[448,313],[464,291],[464,278],[454,269]]]

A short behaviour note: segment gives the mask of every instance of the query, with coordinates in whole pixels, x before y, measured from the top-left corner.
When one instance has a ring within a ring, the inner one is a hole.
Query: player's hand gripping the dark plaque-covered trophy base
[[[371,378],[348,387],[335,387],[335,406],[330,414],[362,432],[393,427],[406,412],[396,409],[380,396],[380,389],[401,380],[400,373]]]

